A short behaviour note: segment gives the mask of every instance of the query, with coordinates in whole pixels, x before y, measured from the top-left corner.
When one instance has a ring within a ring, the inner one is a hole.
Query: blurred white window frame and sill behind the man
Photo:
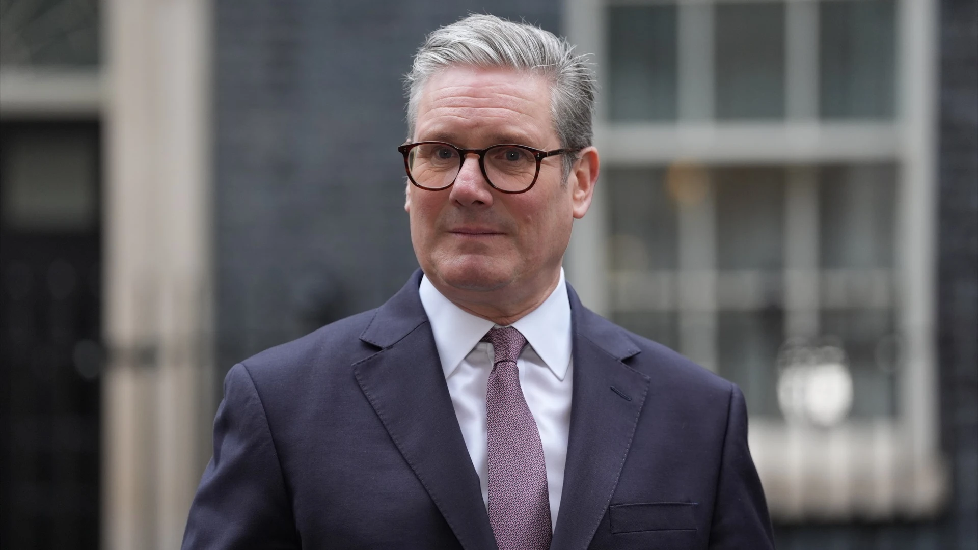
[[[940,512],[948,488],[947,468],[939,446],[933,337],[936,2],[896,0],[895,115],[892,120],[864,122],[819,118],[819,36],[817,26],[808,23],[818,18],[816,2],[819,0],[733,0],[778,1],[786,6],[786,115],[777,121],[737,122],[715,121],[708,112],[704,119],[702,109],[713,104],[712,34],[702,29],[712,28],[713,11],[709,7],[728,1],[732,0],[564,1],[563,29],[579,51],[594,55],[601,89],[606,89],[608,84],[603,69],[608,67],[604,35],[606,6],[654,3],[679,6],[678,119],[611,122],[607,104],[599,96],[595,143],[602,153],[603,168],[656,166],[677,160],[695,160],[704,165],[896,163],[899,179],[895,217],[899,229],[895,235],[894,271],[901,298],[897,326],[907,339],[904,368],[897,374],[898,415],[848,420],[831,430],[786,424],[772,418],[752,418],[749,440],[772,515],[779,521],[932,517]],[[698,32],[684,32],[685,28]],[[792,204],[811,204],[803,196],[792,197],[795,192],[790,189],[811,196],[816,189],[812,176],[812,170],[789,171],[788,208]],[[710,206],[710,201],[705,203]],[[794,219],[802,221],[795,225],[804,225],[804,220],[812,217],[811,211],[808,215],[799,213],[802,215]],[[709,230],[712,226],[704,230],[701,225],[712,224],[713,216],[703,212],[689,214],[693,219],[684,220],[680,212],[681,245],[684,238],[699,239],[701,250],[706,252],[699,252],[704,257],[680,257],[681,270],[684,263],[693,268],[703,267],[701,264],[712,262],[714,256],[709,242],[713,238],[702,241],[704,234],[712,234]],[[612,310],[607,278],[610,263],[605,246],[609,237],[607,216],[604,189],[599,185],[588,216],[577,222],[565,258],[568,280],[589,307],[605,315]],[[801,225],[792,227],[788,223],[786,240],[793,239],[792,233],[813,234]],[[817,268],[817,258],[813,255],[817,250],[817,241],[814,248],[808,242],[801,252],[785,255],[788,264],[786,326],[812,322],[792,318],[792,300],[812,298],[804,298],[803,293],[792,292],[791,288],[806,273],[817,273],[813,271]],[[680,255],[683,254],[681,246]],[[681,279],[692,281],[689,285],[695,289],[684,289],[681,285],[676,299],[698,299],[706,310],[716,308],[715,282],[696,283],[696,277],[686,274]],[[803,286],[811,288],[804,283]],[[683,342],[682,319],[680,342]],[[696,351],[688,353],[704,366],[715,366],[710,354],[715,350]]]

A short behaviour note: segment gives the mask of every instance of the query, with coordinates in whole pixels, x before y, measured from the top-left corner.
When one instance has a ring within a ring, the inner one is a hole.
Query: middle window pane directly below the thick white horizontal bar
[[[714,172],[719,269],[779,270],[783,264],[784,170]]]

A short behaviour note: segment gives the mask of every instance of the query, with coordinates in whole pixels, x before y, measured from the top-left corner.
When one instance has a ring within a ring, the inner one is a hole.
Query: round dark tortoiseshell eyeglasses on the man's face
[[[570,149],[541,151],[504,143],[487,149],[459,149],[441,141],[421,141],[397,148],[411,183],[428,191],[448,189],[455,183],[468,155],[479,156],[479,168],[489,185],[503,193],[525,193],[537,182],[540,162],[572,153]]]

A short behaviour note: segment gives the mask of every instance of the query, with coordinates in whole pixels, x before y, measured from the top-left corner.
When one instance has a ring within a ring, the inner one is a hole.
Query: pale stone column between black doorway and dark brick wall
[[[211,5],[103,6],[103,547],[175,549],[213,415]]]

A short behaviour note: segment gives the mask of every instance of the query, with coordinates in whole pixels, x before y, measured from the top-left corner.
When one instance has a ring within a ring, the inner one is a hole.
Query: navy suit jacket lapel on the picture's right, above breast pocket
[[[584,550],[618,483],[648,377],[622,359],[639,352],[625,332],[585,309],[568,285],[573,322],[573,398],[563,493],[553,549]]]

